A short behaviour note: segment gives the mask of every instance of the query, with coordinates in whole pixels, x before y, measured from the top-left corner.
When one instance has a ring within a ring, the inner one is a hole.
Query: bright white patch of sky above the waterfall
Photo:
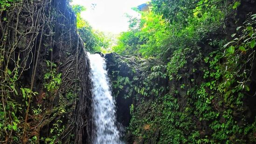
[[[86,7],[81,15],[94,29],[118,34],[128,30],[129,23],[125,14],[139,17],[131,8],[147,1],[149,0],[73,0],[72,4]]]

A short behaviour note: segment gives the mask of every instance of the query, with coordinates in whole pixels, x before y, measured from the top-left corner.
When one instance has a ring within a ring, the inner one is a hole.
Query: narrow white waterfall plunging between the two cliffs
[[[123,144],[116,125],[116,107],[111,96],[104,58],[88,53],[91,68],[93,118],[95,122],[94,144]]]

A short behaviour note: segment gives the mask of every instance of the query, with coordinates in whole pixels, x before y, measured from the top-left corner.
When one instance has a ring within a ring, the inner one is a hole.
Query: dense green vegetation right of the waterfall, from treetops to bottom
[[[112,72],[116,95],[133,99],[129,143],[256,143],[255,11],[228,24],[246,4],[152,0],[130,17],[113,51],[134,74]]]

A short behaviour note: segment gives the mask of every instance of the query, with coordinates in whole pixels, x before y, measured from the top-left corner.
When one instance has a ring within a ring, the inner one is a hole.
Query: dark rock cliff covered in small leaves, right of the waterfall
[[[255,0],[241,1],[224,27],[196,48],[167,52],[167,66],[153,58],[105,56],[128,144],[256,142],[255,50],[233,52],[231,60],[223,48],[255,29],[255,10]]]

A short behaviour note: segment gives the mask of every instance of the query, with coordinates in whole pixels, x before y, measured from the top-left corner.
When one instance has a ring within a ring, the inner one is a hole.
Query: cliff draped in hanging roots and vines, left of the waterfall
[[[0,142],[90,143],[90,66],[69,0],[0,7]]]

